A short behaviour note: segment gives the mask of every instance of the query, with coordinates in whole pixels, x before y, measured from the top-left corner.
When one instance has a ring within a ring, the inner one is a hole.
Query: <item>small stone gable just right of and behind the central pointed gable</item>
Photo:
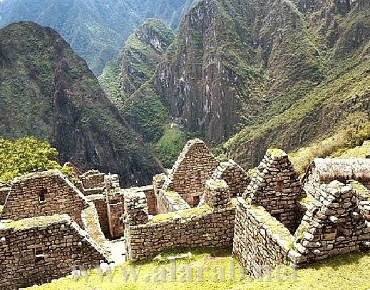
[[[241,197],[250,184],[250,177],[234,160],[221,162],[212,174],[214,180],[225,180],[232,197]]]

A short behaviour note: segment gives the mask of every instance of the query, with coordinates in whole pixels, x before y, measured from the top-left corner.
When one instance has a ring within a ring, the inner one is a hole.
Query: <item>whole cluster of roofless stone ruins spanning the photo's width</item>
[[[248,175],[195,139],[144,187],[122,189],[118,175],[96,170],[74,184],[54,170],[18,177],[0,186],[0,289],[172,248],[232,247],[253,276],[260,265],[370,249],[369,183],[359,173],[367,160],[314,162],[299,180],[285,152],[267,150]],[[323,164],[335,165],[332,178]]]

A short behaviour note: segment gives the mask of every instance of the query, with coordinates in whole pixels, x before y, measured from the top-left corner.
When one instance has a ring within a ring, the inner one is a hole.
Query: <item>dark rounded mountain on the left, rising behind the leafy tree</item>
[[[81,170],[118,172],[146,184],[163,170],[106,97],[82,58],[50,28],[31,22],[0,31],[0,135],[48,140]]]

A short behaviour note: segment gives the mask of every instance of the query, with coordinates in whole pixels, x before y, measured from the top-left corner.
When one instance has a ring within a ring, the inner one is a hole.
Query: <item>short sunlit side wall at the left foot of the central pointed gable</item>
[[[155,200],[157,201],[157,214],[167,214],[168,212],[190,209],[190,205],[185,202],[178,192],[158,190]]]

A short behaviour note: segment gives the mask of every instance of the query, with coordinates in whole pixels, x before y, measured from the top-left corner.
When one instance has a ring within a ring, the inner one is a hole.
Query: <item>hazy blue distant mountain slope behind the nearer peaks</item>
[[[99,75],[117,58],[123,42],[150,17],[176,29],[196,0],[6,0],[0,1],[0,28],[29,20],[50,26]]]

